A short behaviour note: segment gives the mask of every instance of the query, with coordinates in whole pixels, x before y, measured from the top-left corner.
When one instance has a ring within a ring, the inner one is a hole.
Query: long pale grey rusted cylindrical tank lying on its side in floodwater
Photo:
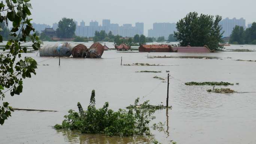
[[[70,43],[61,43],[55,45],[46,45],[39,50],[40,56],[70,56],[72,46]]]

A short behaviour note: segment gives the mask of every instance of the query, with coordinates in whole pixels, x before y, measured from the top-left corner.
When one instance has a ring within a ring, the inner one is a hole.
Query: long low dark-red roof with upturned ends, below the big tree
[[[207,53],[214,51],[210,50],[207,45],[202,47],[191,47],[190,45],[184,47],[173,47],[171,45],[168,45],[168,47],[171,49],[171,52]]]

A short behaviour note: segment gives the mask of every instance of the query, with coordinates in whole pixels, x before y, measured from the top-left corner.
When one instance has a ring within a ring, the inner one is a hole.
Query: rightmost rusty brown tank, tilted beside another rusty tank
[[[86,52],[86,58],[101,58],[104,52],[104,47],[100,43],[94,43]]]

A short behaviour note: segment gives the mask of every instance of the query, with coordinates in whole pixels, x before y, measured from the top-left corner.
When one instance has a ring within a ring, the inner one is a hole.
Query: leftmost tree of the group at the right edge
[[[244,44],[244,27],[236,25],[230,35],[229,43]]]

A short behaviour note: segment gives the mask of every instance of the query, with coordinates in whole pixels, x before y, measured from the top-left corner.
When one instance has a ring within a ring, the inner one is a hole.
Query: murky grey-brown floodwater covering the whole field
[[[45,42],[53,44],[57,42]],[[73,46],[76,43],[71,43]],[[85,43],[90,46],[92,43]],[[151,44],[151,43],[150,43]],[[106,43],[113,48],[113,43]],[[253,45],[231,45],[226,49],[256,50]],[[134,51],[136,52],[136,51]],[[135,98],[150,100],[150,104],[165,104],[167,83],[153,79],[155,73],[136,71],[162,71],[159,77],[167,77],[170,71],[169,105],[172,110],[156,111],[153,123],[165,123],[164,131],[152,130],[163,144],[255,144],[256,143],[256,52],[215,53],[118,53],[104,51],[100,59],[39,57],[26,53],[38,62],[36,76],[24,80],[21,95],[8,101],[14,108],[56,110],[57,112],[15,111],[0,126],[0,144],[123,144],[151,143],[152,137],[107,137],[105,135],[80,134],[76,131],[56,131],[70,109],[77,110],[80,102],[89,105],[90,93],[96,92],[96,107],[108,101],[110,108],[127,107]],[[147,58],[148,56],[170,58]],[[121,64],[148,63],[171,66],[124,66]],[[175,58],[171,58],[171,56]],[[180,57],[180,58],[179,58]],[[199,58],[198,58],[199,57]],[[214,57],[214,59],[202,59]],[[217,57],[217,59],[215,59]],[[185,82],[230,82],[238,93],[209,93],[213,86],[188,86]]]

